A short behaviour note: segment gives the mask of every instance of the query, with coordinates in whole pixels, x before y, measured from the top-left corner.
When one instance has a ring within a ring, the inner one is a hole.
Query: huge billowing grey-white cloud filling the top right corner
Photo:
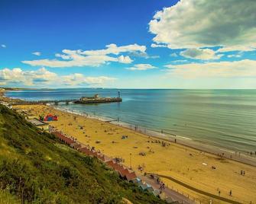
[[[219,52],[256,48],[254,0],[181,0],[149,23],[155,43],[171,49],[223,46]]]

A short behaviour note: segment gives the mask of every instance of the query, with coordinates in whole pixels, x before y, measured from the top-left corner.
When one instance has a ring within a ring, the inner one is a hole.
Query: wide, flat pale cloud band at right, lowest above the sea
[[[166,65],[171,75],[183,78],[245,78],[256,77],[256,61],[243,59],[234,62],[190,63]]]

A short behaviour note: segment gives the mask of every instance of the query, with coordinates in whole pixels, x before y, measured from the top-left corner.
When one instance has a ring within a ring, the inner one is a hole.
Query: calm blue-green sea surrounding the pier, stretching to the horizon
[[[104,116],[235,151],[256,151],[256,90],[120,89],[122,103],[59,104],[58,107]],[[24,100],[75,99],[100,94],[116,97],[118,89],[77,88],[8,91]]]

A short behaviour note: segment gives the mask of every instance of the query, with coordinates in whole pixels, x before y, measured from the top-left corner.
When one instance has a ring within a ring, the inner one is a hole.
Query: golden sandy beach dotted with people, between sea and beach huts
[[[101,150],[105,155],[123,158],[124,164],[128,167],[131,165],[138,174],[147,172],[170,176],[215,195],[219,195],[220,190],[221,196],[234,201],[256,203],[256,167],[219,158],[177,143],[154,139],[111,123],[66,113],[53,107],[44,105],[17,107],[30,110],[37,117],[41,114],[44,116],[48,113],[57,114],[59,120],[50,122],[51,126],[76,137],[85,145]],[[122,135],[128,135],[128,138],[122,139]],[[162,142],[166,142],[166,145],[162,146]],[[142,172],[138,171],[139,165],[144,167]],[[215,169],[212,169],[212,166]],[[245,175],[241,175],[241,171],[245,171]],[[185,195],[189,194],[190,197],[203,203],[209,203],[207,196],[188,190],[171,180],[162,180],[170,188],[173,187]],[[232,196],[229,196],[230,190]],[[215,199],[212,201],[212,203],[224,203],[215,202]]]

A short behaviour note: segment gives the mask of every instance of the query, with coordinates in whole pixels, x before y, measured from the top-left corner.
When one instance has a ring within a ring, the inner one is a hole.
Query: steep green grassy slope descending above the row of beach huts
[[[161,203],[0,105],[0,189],[36,203]],[[7,195],[8,196],[8,195]],[[11,197],[12,199],[12,197]],[[1,199],[0,199],[1,200]]]

